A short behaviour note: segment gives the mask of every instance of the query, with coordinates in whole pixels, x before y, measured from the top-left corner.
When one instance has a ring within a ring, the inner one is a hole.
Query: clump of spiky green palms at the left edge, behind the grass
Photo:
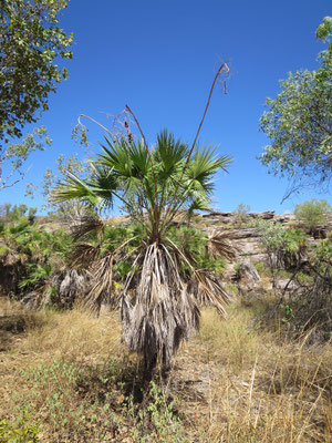
[[[29,300],[33,308],[46,306],[54,289],[52,280],[65,268],[71,238],[63,230],[46,231],[21,219],[2,226],[0,241],[3,292],[13,292],[23,302]]]

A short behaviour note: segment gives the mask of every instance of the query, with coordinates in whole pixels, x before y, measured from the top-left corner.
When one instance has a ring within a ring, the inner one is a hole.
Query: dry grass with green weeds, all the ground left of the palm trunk
[[[8,324],[27,316],[17,306],[1,308]],[[12,339],[0,354],[0,421],[22,434],[38,427],[43,442],[117,441],[127,420],[118,412],[123,390],[137,372],[121,343],[118,316],[96,320],[76,308],[28,317],[20,330],[8,327]]]

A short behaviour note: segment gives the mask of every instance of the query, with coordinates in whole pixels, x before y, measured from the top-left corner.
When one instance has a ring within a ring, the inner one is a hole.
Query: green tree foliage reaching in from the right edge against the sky
[[[328,43],[319,54],[320,68],[289,73],[281,92],[268,99],[260,128],[272,143],[260,161],[274,175],[303,185],[329,186],[332,171],[332,18],[325,17],[317,38]]]

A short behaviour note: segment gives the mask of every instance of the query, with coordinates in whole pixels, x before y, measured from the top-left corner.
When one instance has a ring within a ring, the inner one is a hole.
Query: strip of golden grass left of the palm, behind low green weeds
[[[64,312],[33,312],[2,301],[0,316],[25,319],[24,334],[15,342],[14,352],[33,352],[40,358],[69,357],[73,361],[86,361],[91,356],[97,360],[122,352],[118,316],[114,312],[105,312],[96,321],[80,306]]]

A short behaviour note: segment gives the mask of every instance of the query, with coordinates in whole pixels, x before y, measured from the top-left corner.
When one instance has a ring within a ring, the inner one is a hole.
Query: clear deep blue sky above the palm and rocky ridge
[[[266,97],[278,94],[289,71],[318,66],[323,45],[315,29],[331,14],[331,0],[71,0],[60,24],[74,33],[74,59],[40,121],[53,145],[31,159],[28,181],[39,183],[61,153],[80,150],[71,140],[80,113],[107,124],[105,113],[116,114],[127,103],[151,143],[164,127],[191,142],[216,70],[228,61],[228,95],[215,90],[200,133],[201,141],[235,158],[229,174],[218,177],[218,208],[243,203],[253,212],[283,213],[312,197],[332,204],[329,195],[307,193],[280,205],[287,182],[268,175],[256,159],[268,144],[258,131]],[[89,128],[97,151],[103,133],[93,124]],[[23,203],[23,195],[18,185],[2,192],[1,200]]]

